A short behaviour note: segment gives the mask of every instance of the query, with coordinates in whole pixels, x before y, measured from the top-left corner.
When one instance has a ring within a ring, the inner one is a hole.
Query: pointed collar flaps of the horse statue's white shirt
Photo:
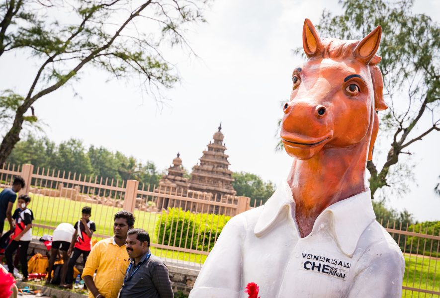
[[[294,210],[295,202],[290,186],[286,181],[282,181],[270,199],[264,204],[262,214],[254,228],[255,235],[261,237],[275,225],[285,220],[291,220],[296,226]],[[341,251],[352,256],[361,234],[375,219],[370,190],[367,189],[327,207],[316,219],[310,235],[316,233],[319,226],[327,222],[330,226],[333,226],[331,233]],[[300,237],[297,229],[295,233]]]

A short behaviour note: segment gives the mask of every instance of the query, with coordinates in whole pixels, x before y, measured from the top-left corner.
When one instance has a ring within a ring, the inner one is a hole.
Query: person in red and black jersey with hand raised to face
[[[69,260],[69,267],[67,269],[66,285],[60,285],[60,287],[70,288],[74,280],[73,268],[80,257],[83,254],[83,263],[86,264],[88,254],[91,250],[91,236],[96,231],[96,225],[90,221],[91,208],[83,208],[83,217],[75,224],[75,233],[72,236],[72,242],[70,244],[67,253],[71,256]],[[73,253],[72,253],[73,252]]]

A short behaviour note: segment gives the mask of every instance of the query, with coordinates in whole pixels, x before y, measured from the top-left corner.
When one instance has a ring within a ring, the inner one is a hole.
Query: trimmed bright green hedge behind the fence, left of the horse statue
[[[157,236],[153,242],[211,251],[216,236],[218,238],[230,218],[224,215],[194,214],[189,211],[185,212],[181,208],[168,208],[167,211],[162,211],[161,216],[157,219]],[[203,235],[205,235],[204,241]]]

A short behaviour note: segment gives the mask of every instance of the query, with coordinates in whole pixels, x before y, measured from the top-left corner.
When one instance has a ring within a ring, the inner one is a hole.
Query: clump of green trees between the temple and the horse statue
[[[237,192],[237,196],[245,196],[251,198],[251,206],[260,206],[264,204],[275,191],[272,182],[264,182],[263,179],[252,173],[234,172],[232,173],[232,186]]]

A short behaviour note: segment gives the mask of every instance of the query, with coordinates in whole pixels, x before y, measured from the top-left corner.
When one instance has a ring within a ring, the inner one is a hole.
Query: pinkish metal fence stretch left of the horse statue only
[[[156,255],[199,265],[228,219],[250,209],[247,197],[212,198],[200,192],[183,196],[176,190],[140,185],[135,180],[114,181],[53,169],[34,169],[30,164],[4,164],[0,168],[0,187],[10,186],[16,175],[26,181],[26,187],[19,194],[31,196],[29,209],[35,217],[34,236],[52,234],[60,223],[74,224],[81,218],[81,209],[89,206],[91,220],[96,224],[94,239],[109,237],[113,235],[113,215],[128,210],[135,215],[135,227],[150,233]],[[189,221],[181,219],[185,215]]]

